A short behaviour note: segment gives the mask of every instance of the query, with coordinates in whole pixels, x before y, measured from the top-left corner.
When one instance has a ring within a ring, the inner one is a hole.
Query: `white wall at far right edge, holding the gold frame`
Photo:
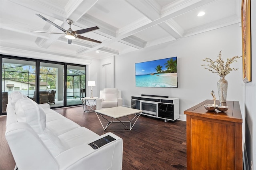
[[[246,83],[244,87],[244,112],[243,136],[245,139],[248,164],[253,164],[253,170],[256,169],[256,1],[251,1],[251,46],[252,46],[252,81]]]

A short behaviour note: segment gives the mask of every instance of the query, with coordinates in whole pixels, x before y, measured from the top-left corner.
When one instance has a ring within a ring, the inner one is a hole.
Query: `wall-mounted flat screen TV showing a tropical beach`
[[[135,63],[136,87],[178,87],[177,57]]]

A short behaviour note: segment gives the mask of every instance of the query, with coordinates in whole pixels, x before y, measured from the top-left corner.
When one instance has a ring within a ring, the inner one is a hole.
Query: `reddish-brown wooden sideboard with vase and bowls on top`
[[[238,101],[228,110],[207,111],[206,100],[184,111],[187,117],[188,170],[242,170],[242,115]],[[219,101],[216,101],[219,105]]]

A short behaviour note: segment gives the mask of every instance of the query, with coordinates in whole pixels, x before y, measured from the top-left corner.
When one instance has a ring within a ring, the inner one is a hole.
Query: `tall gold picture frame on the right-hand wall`
[[[242,56],[243,56],[243,81],[251,81],[251,1],[242,0]]]

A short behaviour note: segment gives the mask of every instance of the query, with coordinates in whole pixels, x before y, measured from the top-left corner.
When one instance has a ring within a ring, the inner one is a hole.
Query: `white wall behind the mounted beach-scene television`
[[[115,83],[122,90],[124,106],[131,106],[131,95],[167,95],[180,98],[180,119],[186,120],[184,110],[212,99],[211,90],[218,100],[219,76],[204,69],[202,59],[216,59],[222,50],[223,59],[242,55],[241,27],[238,24],[182,38],[175,42],[141,49],[133,53],[116,56]],[[135,87],[134,63],[177,56],[178,88]],[[239,68],[226,76],[229,101],[240,101],[242,105],[242,58],[231,67]]]

